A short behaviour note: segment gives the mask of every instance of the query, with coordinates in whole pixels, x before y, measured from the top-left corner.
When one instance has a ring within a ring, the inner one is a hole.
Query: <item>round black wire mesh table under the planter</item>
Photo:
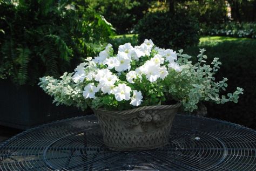
[[[169,145],[113,152],[95,116],[24,131],[0,144],[0,170],[256,170],[256,131],[230,122],[177,115]]]

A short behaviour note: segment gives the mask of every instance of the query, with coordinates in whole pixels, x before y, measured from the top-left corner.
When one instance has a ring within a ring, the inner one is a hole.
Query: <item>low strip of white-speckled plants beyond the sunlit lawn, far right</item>
[[[201,35],[256,38],[256,23],[226,22],[223,24],[202,25]]]

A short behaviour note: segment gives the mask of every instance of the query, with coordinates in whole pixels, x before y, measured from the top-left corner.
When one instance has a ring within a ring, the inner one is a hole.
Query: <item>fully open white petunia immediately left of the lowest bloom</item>
[[[131,87],[126,86],[125,84],[118,84],[113,90],[114,98],[116,98],[117,101],[130,100],[131,91]]]

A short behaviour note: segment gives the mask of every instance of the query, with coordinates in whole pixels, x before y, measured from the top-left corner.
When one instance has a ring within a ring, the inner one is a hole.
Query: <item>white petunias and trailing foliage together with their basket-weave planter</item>
[[[60,79],[43,77],[39,86],[65,104],[85,110],[91,107],[99,119],[105,145],[133,151],[166,145],[179,106],[197,109],[199,101],[237,102],[242,88],[219,96],[226,78],[214,81],[218,58],[211,65],[200,50],[198,62],[171,49],[161,49],[145,39],[140,46],[120,45],[117,54],[107,45],[98,57],[87,58],[75,73]]]

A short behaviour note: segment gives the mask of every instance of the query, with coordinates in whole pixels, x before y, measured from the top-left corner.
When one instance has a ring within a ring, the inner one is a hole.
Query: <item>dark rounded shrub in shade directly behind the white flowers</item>
[[[199,42],[197,20],[183,13],[149,13],[139,21],[136,30],[139,42],[148,38],[164,48],[184,48]]]

